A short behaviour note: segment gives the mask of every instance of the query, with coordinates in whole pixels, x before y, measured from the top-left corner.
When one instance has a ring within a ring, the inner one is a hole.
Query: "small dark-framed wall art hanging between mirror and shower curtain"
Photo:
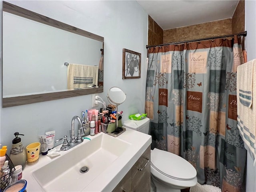
[[[123,49],[123,79],[140,78],[141,54]]]

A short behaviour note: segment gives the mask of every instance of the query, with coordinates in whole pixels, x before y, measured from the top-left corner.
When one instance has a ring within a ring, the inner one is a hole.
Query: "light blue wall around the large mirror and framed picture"
[[[118,106],[119,111],[124,111],[123,121],[128,120],[130,114],[144,112],[148,15],[136,1],[8,2],[103,36],[104,93],[100,94],[101,98],[108,104],[108,89],[118,86],[126,92],[126,101]],[[123,48],[141,53],[141,78],[122,80]],[[92,108],[91,100],[92,96],[86,95],[10,108],[1,107],[0,143],[7,145],[9,152],[14,132],[25,134],[21,136],[24,146],[37,142],[38,134],[50,130],[56,130],[56,138],[69,135],[71,118]]]

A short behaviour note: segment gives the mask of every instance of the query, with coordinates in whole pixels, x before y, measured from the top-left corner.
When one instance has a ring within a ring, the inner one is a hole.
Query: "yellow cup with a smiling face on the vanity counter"
[[[33,165],[39,160],[39,151],[41,144],[39,142],[31,143],[26,147],[28,164]]]

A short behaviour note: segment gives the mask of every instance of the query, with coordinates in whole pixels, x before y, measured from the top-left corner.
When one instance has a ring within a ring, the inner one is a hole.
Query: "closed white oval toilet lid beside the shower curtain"
[[[151,151],[151,165],[160,173],[178,180],[196,177],[196,169],[182,157],[154,148]]]

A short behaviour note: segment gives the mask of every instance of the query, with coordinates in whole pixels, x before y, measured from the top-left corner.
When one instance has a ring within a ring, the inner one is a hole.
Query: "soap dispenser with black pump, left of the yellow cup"
[[[10,159],[14,166],[22,165],[22,169],[24,169],[26,165],[26,150],[22,145],[21,138],[19,138],[19,132],[14,133],[15,138],[12,140],[12,149],[10,151]]]

